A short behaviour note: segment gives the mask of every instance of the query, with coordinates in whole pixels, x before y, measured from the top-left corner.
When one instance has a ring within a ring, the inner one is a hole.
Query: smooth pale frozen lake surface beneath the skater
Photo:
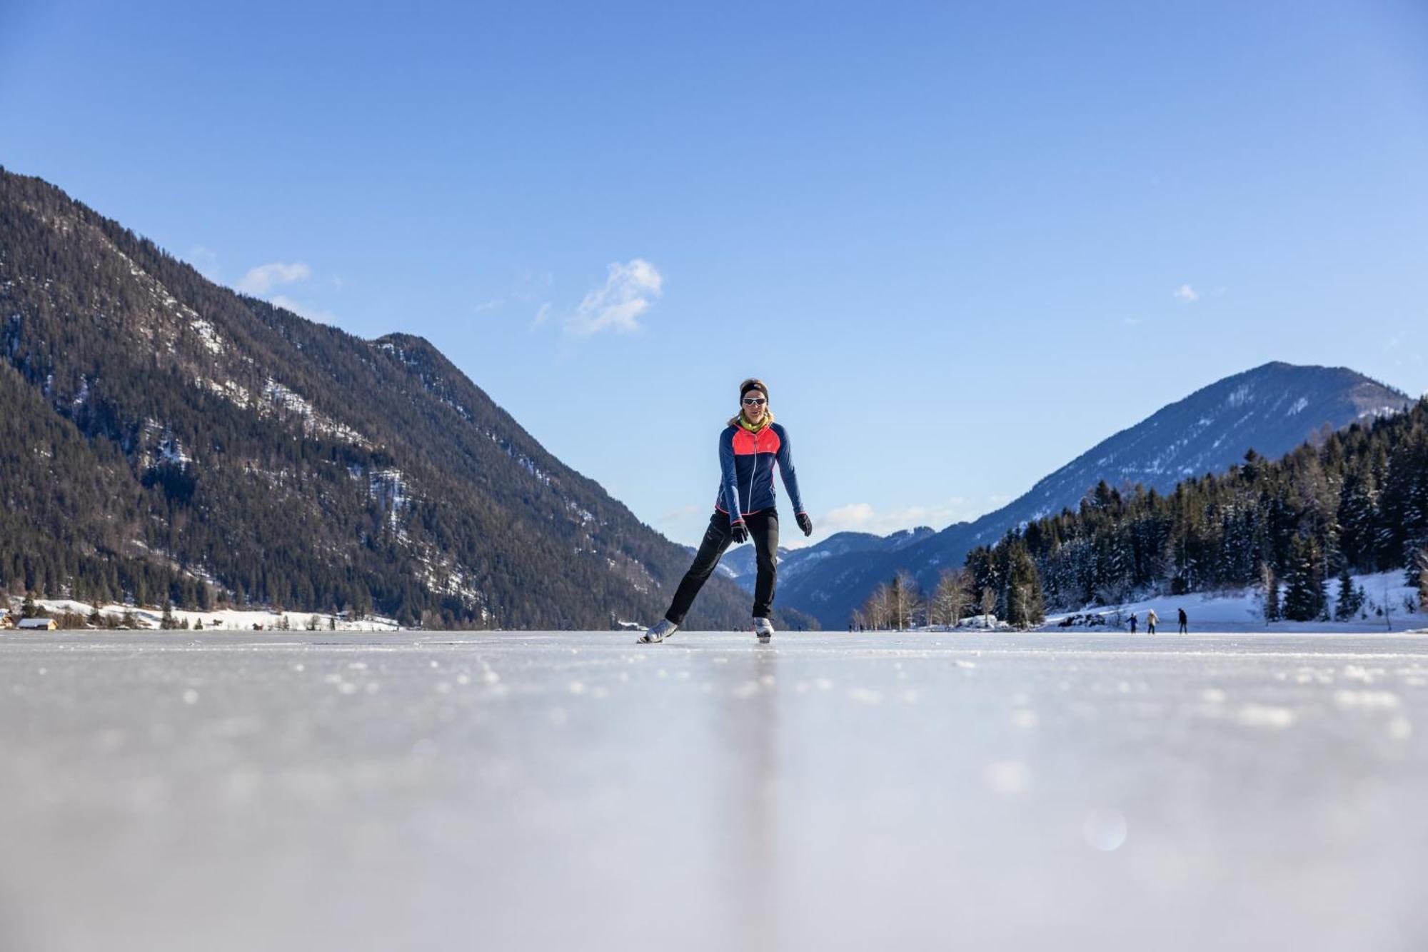
[[[1428,639],[0,635],[0,948],[1421,949]]]

